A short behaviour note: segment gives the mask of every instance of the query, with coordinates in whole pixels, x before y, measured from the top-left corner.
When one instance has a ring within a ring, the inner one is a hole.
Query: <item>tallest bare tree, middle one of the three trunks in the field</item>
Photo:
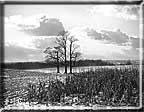
[[[68,40],[68,31],[61,31],[56,38],[56,43],[62,48],[65,62],[65,73],[67,73],[67,40]]]

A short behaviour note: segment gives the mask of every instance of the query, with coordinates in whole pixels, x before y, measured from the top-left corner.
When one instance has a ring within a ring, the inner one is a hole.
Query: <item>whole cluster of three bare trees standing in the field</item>
[[[76,44],[78,39],[71,36],[68,31],[61,31],[56,38],[55,47],[47,47],[44,50],[47,60],[57,62],[57,73],[59,73],[60,62],[64,62],[65,73],[67,73],[68,59],[70,66],[70,73],[72,73],[72,63],[76,61],[81,53],[79,52],[79,46]]]

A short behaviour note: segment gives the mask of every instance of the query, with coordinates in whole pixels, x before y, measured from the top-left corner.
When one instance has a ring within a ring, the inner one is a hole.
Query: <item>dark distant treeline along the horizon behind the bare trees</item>
[[[67,61],[69,65],[69,61]],[[78,60],[72,61],[73,67],[80,67],[80,66],[106,66],[106,65],[114,65],[110,62],[103,61],[103,60]],[[59,63],[60,67],[65,66],[65,62]],[[7,69],[40,69],[40,68],[50,68],[50,67],[57,67],[56,61],[46,61],[46,62],[15,62],[15,63],[3,63],[2,68]]]

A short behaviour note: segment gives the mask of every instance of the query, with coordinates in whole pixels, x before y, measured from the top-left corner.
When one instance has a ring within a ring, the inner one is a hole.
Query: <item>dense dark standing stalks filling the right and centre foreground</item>
[[[139,106],[139,69],[99,68],[29,83],[26,101],[47,105]]]

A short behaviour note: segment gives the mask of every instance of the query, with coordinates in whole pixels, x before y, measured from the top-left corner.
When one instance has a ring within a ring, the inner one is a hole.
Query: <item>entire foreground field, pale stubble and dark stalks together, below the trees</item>
[[[5,105],[139,106],[137,67],[99,68],[63,76],[18,70],[6,70],[5,74]]]

